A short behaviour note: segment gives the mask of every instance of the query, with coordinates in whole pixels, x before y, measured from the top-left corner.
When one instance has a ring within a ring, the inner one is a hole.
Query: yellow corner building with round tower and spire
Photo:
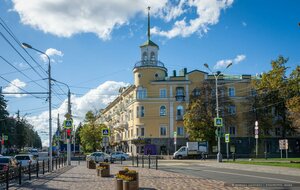
[[[149,15],[148,15],[149,22]],[[158,60],[159,46],[148,39],[140,46],[141,58],[134,65],[134,84],[120,89],[119,96],[101,112],[99,122],[111,129],[110,144],[116,150],[135,154],[168,154],[176,146],[185,145],[188,134],[183,126],[183,115],[189,104],[189,97],[197,93],[204,81],[214,84],[215,78],[206,72],[186,68],[173,71],[168,76],[165,65]],[[251,93],[251,76],[220,76],[220,85],[226,86],[226,93],[233,105],[230,112],[249,111],[245,105]],[[226,132],[233,137],[253,136],[242,114],[236,114],[235,125],[227,126]]]

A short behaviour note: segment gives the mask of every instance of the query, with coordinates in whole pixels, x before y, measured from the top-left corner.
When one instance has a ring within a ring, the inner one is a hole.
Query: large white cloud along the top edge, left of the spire
[[[153,10],[167,0],[151,2]],[[79,33],[95,33],[109,39],[112,30],[129,23],[136,14],[146,11],[141,0],[13,0],[21,22],[45,33],[70,37]]]

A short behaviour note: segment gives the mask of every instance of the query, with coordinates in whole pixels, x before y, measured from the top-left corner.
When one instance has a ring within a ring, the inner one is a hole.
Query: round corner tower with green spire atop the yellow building
[[[147,41],[140,48],[141,60],[135,64],[133,69],[135,86],[144,86],[153,80],[164,80],[167,76],[167,69],[158,60],[158,45],[150,39],[150,7],[148,7]]]

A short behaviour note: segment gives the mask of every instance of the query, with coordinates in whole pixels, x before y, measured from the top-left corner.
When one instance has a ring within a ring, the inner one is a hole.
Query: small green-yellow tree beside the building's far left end
[[[96,123],[97,117],[92,111],[88,111],[85,115],[85,124],[80,130],[80,140],[84,151],[97,151],[101,148],[102,128],[104,124]]]

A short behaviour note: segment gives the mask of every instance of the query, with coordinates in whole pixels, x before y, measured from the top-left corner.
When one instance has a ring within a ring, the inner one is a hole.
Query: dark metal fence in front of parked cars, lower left
[[[65,157],[54,158],[52,160],[52,171],[66,166],[66,162],[67,159]],[[4,170],[0,170],[0,189],[9,189],[9,185],[12,183],[21,185],[22,181],[30,181],[32,177],[39,178],[40,174],[44,175],[46,172],[49,172],[49,168],[49,160],[38,161],[35,164],[29,163],[28,166],[7,167]]]

